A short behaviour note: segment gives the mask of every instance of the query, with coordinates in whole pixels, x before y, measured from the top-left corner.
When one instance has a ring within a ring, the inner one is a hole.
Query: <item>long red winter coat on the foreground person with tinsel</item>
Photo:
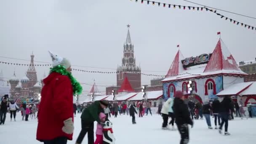
[[[62,131],[63,121],[73,117],[73,88],[69,77],[53,72],[43,80],[38,112],[37,140],[52,140],[65,136],[72,140],[73,134]]]

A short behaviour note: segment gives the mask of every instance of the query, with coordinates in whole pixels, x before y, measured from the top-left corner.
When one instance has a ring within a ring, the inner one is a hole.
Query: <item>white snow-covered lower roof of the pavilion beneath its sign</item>
[[[242,71],[236,71],[236,70],[219,70],[215,72],[203,72],[207,64],[201,64],[197,66],[190,67],[190,69],[184,70],[182,73],[179,73],[179,75],[173,76],[173,77],[167,77],[162,82],[171,81],[171,80],[180,80],[180,79],[187,79],[192,77],[200,77],[200,76],[206,76],[206,75],[216,75],[216,74],[243,74],[247,75],[245,72]]]

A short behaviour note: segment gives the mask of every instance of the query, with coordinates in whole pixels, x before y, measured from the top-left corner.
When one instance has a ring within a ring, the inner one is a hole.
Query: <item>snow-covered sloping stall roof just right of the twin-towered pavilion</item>
[[[246,87],[251,85],[253,82],[246,82],[246,83],[235,83],[230,85],[228,88],[224,89],[223,91],[216,94],[217,96],[224,96],[224,95],[237,95],[240,91],[243,91]],[[245,90],[246,91],[246,90]],[[254,90],[256,91],[256,90]]]

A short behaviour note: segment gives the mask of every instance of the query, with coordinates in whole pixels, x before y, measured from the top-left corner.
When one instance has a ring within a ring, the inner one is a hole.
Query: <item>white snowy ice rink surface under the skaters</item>
[[[37,141],[37,120],[28,122],[21,121],[21,113],[18,113],[16,122],[10,122],[10,114],[7,114],[5,125],[0,125],[1,144],[42,144]],[[131,117],[118,115],[110,118],[113,122],[113,131],[116,144],[179,144],[180,135],[178,131],[162,130],[162,117],[159,115],[136,116],[137,124],[131,123]],[[213,119],[211,120],[213,125]],[[75,140],[81,129],[80,114],[75,117]],[[205,120],[195,120],[194,128],[190,128],[190,144],[255,144],[256,143],[256,119],[241,120],[236,118],[229,121],[229,133],[231,136],[220,135],[217,130],[209,130]],[[83,141],[87,144],[87,135]]]

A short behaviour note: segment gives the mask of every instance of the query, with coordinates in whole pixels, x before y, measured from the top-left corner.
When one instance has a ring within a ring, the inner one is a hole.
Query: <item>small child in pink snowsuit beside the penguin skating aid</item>
[[[105,123],[107,117],[106,115],[104,115],[104,113],[101,112],[99,114],[99,119],[101,120],[101,123]],[[96,140],[94,144],[103,144],[103,125],[101,125],[100,123],[97,123]]]

